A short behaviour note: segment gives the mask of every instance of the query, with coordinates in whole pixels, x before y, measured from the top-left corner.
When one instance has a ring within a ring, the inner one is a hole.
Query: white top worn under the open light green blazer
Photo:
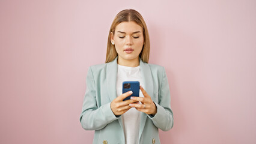
[[[144,86],[141,77],[141,68],[126,67],[118,64],[117,69],[117,96],[122,94],[122,87],[124,81],[139,81],[139,84]],[[139,91],[139,97],[144,97]],[[126,144],[139,143],[139,125],[141,122],[141,112],[134,107],[129,109],[126,113],[121,115],[124,128],[124,136]]]

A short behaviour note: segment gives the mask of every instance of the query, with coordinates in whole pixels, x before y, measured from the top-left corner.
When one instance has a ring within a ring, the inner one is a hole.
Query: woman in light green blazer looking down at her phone
[[[93,143],[160,143],[158,128],[173,125],[169,85],[165,69],[147,64],[150,41],[147,26],[135,10],[117,14],[108,37],[106,63],[93,65],[80,121],[95,130]],[[139,81],[140,97],[124,98],[122,82]]]

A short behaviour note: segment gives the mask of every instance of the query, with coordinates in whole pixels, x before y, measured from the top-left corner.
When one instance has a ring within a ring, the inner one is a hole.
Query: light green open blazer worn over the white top
[[[171,97],[165,69],[139,59],[144,89],[157,107],[154,116],[142,113],[139,126],[139,143],[160,143],[158,128],[168,131],[173,126]],[[124,144],[121,116],[115,116],[110,103],[117,97],[117,58],[114,61],[93,65],[87,74],[87,89],[80,122],[85,130],[95,130],[93,143]]]

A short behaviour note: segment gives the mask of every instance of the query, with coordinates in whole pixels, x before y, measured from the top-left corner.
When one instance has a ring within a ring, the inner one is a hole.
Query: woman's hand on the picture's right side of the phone
[[[147,92],[140,86],[141,92],[144,97],[131,97],[132,100],[141,101],[142,104],[139,103],[131,103],[130,107],[135,107],[137,110],[147,113],[148,115],[156,115],[157,108],[156,104],[151,100],[151,97],[147,94]]]

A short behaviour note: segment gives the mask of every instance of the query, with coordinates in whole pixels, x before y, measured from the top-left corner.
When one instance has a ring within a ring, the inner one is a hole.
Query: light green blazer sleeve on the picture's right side
[[[161,130],[171,130],[171,128],[173,127],[174,119],[171,110],[171,95],[169,91],[169,83],[164,68],[159,88],[159,103],[155,104],[157,107],[156,115],[148,115],[148,117],[153,121],[153,124]]]

